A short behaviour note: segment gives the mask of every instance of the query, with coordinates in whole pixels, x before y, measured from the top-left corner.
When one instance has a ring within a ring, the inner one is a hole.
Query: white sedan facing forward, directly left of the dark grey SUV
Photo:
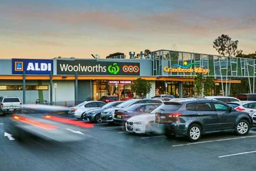
[[[151,132],[160,133],[159,130],[155,130],[153,127],[153,123],[155,121],[155,112],[158,111],[158,108],[154,109],[150,113],[143,113],[129,118],[125,124],[126,131],[135,132],[138,134],[150,134]]]

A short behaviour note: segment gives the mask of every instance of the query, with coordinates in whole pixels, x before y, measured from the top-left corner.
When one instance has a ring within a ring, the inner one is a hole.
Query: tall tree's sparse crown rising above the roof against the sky
[[[241,50],[237,50],[237,45],[238,40],[233,41],[228,35],[221,35],[213,42],[213,47],[223,56],[236,56],[241,53]]]

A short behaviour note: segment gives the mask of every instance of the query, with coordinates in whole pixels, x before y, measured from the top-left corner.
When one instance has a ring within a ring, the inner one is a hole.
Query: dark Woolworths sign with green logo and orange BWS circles
[[[140,63],[57,60],[58,75],[140,75]]]

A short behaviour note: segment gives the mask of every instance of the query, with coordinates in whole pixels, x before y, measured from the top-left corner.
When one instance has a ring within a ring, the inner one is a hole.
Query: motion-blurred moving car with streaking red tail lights
[[[62,118],[68,110],[59,106],[23,105],[22,113],[12,114],[4,120],[5,135],[33,143],[38,137],[58,142],[84,140],[86,137],[82,132],[93,124]]]

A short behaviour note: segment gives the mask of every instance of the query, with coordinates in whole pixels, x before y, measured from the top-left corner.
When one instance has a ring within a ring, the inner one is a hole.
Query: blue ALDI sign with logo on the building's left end
[[[47,59],[12,59],[12,74],[49,75],[53,71],[53,61]]]

